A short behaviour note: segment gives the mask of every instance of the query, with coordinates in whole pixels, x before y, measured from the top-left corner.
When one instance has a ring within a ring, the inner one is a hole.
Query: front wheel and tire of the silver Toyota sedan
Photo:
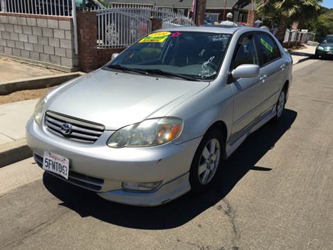
[[[212,128],[204,135],[191,163],[191,192],[200,194],[212,187],[221,169],[223,153],[223,135],[218,128]]]

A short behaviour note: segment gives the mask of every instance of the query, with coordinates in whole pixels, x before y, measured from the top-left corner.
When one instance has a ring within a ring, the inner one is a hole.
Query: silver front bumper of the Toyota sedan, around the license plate
[[[201,138],[178,145],[112,149],[106,145],[111,134],[105,131],[94,144],[87,145],[60,138],[33,119],[26,126],[27,144],[37,163],[42,162],[44,150],[69,158],[68,182],[97,192],[104,199],[157,206],[190,190],[189,168]],[[129,192],[122,190],[123,181],[162,181],[162,185],[153,192]]]

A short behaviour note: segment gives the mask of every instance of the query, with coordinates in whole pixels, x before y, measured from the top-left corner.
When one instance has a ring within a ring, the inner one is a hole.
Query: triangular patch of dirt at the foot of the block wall
[[[7,83],[8,81],[33,78],[38,76],[51,76],[61,74],[56,69],[49,69],[46,67],[39,67],[30,65],[28,63],[21,63],[10,58],[0,56],[0,83]]]

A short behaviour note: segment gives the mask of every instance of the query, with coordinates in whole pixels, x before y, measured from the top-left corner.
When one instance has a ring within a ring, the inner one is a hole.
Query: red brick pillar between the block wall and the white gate
[[[93,11],[76,12],[78,23],[78,60],[80,69],[89,72],[96,69],[97,17]]]

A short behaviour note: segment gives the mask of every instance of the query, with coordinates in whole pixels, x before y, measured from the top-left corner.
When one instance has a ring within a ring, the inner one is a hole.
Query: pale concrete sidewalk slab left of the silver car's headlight
[[[0,145],[26,137],[25,126],[38,99],[0,105]]]

